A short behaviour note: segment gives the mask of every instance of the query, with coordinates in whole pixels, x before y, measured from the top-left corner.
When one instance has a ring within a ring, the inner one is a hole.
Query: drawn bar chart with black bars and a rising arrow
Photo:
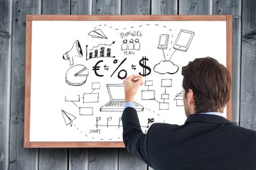
[[[114,44],[114,41],[110,44],[99,44],[97,46],[92,47],[91,50],[89,50],[89,55],[86,54],[86,60],[90,60],[92,58],[97,57],[115,57],[111,55],[111,45]],[[88,46],[86,45],[86,48]],[[87,51],[87,50],[86,50]]]

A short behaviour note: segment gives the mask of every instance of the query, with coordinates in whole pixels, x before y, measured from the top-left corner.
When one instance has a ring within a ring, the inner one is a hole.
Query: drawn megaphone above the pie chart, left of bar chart
[[[63,55],[64,60],[70,60],[70,66],[74,64],[73,57],[82,57],[82,48],[78,40],[73,44],[73,47]]]

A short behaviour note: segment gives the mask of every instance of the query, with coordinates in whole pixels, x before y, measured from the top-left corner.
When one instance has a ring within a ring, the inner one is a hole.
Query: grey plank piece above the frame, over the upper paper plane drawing
[[[120,15],[121,0],[93,0],[93,15]]]

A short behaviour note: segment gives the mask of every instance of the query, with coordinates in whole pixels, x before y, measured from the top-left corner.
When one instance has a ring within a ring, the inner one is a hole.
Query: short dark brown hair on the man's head
[[[182,67],[181,74],[185,96],[189,89],[193,91],[195,113],[220,111],[228,103],[231,91],[230,73],[217,60],[210,57],[198,58]]]

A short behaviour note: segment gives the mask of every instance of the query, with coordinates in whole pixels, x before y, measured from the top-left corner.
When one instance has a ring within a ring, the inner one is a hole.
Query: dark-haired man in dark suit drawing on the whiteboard
[[[146,135],[132,101],[141,76],[124,79],[123,140],[127,150],[153,169],[256,170],[256,132],[223,118],[231,78],[217,60],[206,57],[182,67],[183,125],[154,123]]]

